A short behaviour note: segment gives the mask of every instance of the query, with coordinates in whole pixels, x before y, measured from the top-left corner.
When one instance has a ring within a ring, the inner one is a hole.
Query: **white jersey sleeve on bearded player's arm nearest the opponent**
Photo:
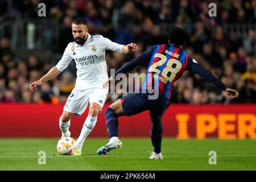
[[[104,36],[100,37],[100,47],[101,47],[101,49],[123,53],[123,45],[122,44],[112,42],[108,38],[104,38]]]

